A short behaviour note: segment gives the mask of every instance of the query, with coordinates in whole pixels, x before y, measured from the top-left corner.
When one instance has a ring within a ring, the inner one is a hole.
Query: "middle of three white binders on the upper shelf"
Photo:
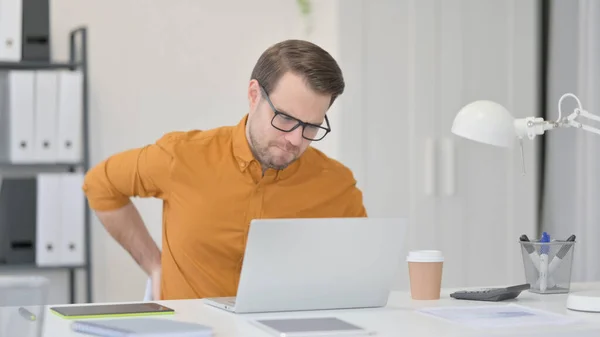
[[[34,157],[38,163],[57,162],[58,73],[35,72]]]

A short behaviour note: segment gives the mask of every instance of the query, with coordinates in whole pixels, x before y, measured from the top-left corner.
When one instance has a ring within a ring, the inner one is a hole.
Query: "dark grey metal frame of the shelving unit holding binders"
[[[11,164],[0,163],[1,170],[17,170],[18,172],[42,173],[42,172],[73,172],[82,170],[87,172],[90,166],[89,160],[89,100],[88,100],[88,58],[87,58],[87,28],[79,27],[69,33],[69,60],[68,62],[2,62],[0,71],[6,70],[72,70],[82,73],[82,160],[79,163],[57,163],[57,164]],[[91,271],[91,240],[90,240],[90,212],[87,200],[85,200],[84,211],[84,250],[85,263],[83,265],[66,266],[38,266],[36,264],[0,264],[0,271],[12,270],[65,270],[69,273],[69,297],[70,303],[75,303],[76,298],[76,272],[85,272],[85,302],[92,302],[92,271]]]

